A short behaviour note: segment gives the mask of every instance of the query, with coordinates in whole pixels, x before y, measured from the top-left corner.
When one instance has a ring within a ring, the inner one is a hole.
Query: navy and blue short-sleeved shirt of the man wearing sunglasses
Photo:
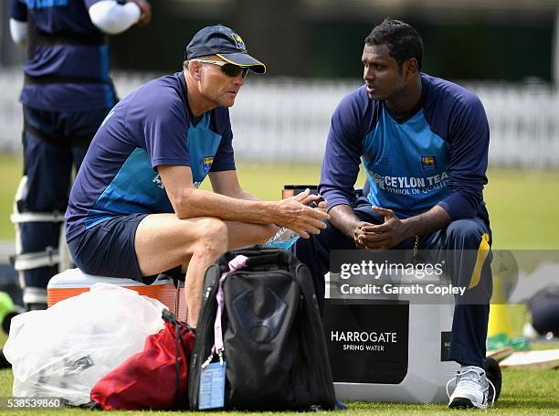
[[[194,118],[182,72],[142,85],[90,144],[69,197],[67,239],[115,217],[174,212],[157,166],[190,166],[198,187],[209,172],[235,170],[232,140],[227,107]]]

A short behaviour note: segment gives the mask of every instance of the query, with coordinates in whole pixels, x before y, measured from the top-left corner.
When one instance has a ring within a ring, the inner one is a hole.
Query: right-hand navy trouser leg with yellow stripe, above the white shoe
[[[457,299],[450,336],[450,359],[483,367],[492,293],[491,231],[481,219],[459,219],[422,240],[421,248],[445,260],[454,286],[467,287]]]

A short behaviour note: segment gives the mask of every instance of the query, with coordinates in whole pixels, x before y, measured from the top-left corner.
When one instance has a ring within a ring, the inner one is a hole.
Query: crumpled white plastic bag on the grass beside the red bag
[[[14,371],[14,396],[90,401],[90,390],[146,336],[163,328],[165,306],[114,284],[12,319],[4,353]]]

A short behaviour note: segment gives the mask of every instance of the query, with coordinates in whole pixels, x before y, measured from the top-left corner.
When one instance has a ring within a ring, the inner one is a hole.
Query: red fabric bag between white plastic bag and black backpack
[[[188,409],[188,364],[194,329],[163,309],[165,327],[91,389],[95,407],[104,410]]]

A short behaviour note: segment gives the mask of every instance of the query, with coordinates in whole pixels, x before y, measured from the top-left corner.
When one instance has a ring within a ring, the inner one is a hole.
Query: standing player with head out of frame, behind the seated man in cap
[[[116,103],[107,35],[151,18],[145,0],[11,0],[10,31],[27,49],[24,177],[16,195],[16,270],[27,310],[47,307],[72,165]]]

